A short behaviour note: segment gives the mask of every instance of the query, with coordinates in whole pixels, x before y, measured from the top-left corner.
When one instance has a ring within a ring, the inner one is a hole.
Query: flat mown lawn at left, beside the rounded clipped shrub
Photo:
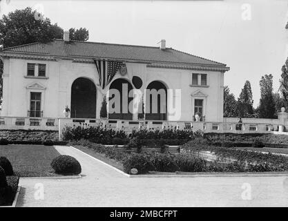
[[[0,156],[10,160],[15,175],[19,177],[56,176],[50,166],[60,153],[52,146],[7,145],[0,146]]]

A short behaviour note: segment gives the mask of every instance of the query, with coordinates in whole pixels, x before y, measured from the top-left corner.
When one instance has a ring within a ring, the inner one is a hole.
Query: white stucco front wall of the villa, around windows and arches
[[[63,117],[66,105],[71,104],[71,86],[79,77],[88,78],[97,88],[96,117],[102,97],[109,88],[101,90],[95,64],[80,63],[68,59],[48,61],[45,59],[3,58],[3,109],[2,116],[27,117],[30,108],[30,92],[41,93],[41,110],[43,117]],[[27,64],[46,64],[46,77],[28,77]],[[127,74],[119,71],[113,80],[124,78],[131,82],[133,76],[142,79],[140,90],[152,81],[161,81],[167,89],[181,90],[181,121],[192,121],[194,115],[194,99],[203,99],[203,115],[207,122],[223,121],[223,84],[224,73],[213,70],[185,70],[177,68],[154,68],[147,64],[125,62]],[[207,86],[192,86],[192,74],[207,74]],[[113,81],[111,81],[112,83]],[[175,97],[175,95],[174,95]],[[171,106],[168,99],[168,106]],[[174,104],[175,105],[175,104]],[[173,117],[168,115],[168,120]]]

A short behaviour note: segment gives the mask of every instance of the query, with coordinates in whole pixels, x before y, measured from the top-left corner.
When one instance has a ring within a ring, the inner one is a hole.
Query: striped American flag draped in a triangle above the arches
[[[119,61],[104,61],[94,60],[99,75],[99,84],[104,89],[109,84],[119,68],[122,66],[122,62]]]

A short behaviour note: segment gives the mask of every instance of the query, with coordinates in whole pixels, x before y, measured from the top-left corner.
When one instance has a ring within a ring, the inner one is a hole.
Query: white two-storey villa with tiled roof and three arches
[[[109,89],[119,90],[122,104],[124,90],[137,88],[144,95],[145,89],[154,88],[164,89],[166,99],[157,100],[156,113],[145,110],[147,120],[193,122],[199,112],[202,121],[223,122],[224,73],[229,67],[166,48],[165,40],[160,47],[131,46],[70,41],[65,33],[64,39],[47,44],[4,48],[1,59],[4,117],[61,118],[69,106],[71,118],[99,119]],[[181,89],[177,119],[167,111],[173,105],[169,89]],[[146,96],[143,100],[147,108]],[[137,120],[137,114],[124,109],[108,118]]]

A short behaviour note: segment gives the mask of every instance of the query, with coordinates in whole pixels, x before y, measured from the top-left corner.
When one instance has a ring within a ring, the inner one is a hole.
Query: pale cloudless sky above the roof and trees
[[[262,75],[279,88],[288,57],[287,0],[25,1],[2,0],[0,15],[37,8],[61,28],[87,28],[89,40],[166,46],[227,64],[224,85],[239,96],[249,80],[257,106]]]

